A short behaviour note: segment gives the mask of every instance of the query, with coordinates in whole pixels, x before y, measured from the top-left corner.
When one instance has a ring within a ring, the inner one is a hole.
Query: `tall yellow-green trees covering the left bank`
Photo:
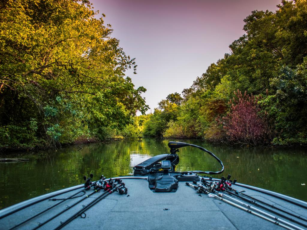
[[[146,112],[97,15],[87,0],[0,2],[0,150],[114,138]]]

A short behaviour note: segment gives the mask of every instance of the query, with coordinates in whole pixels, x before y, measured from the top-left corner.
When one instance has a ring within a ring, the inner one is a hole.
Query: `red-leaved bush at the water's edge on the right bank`
[[[265,144],[268,126],[266,119],[259,117],[260,108],[258,98],[253,95],[244,95],[238,90],[228,103],[231,110],[222,118],[223,129],[227,139],[233,143],[261,145]]]

